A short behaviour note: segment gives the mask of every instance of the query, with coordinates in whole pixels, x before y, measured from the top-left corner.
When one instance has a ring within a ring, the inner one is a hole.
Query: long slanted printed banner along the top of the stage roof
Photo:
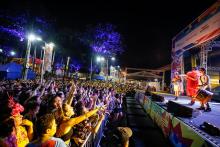
[[[172,52],[188,50],[220,35],[220,1],[173,38]]]

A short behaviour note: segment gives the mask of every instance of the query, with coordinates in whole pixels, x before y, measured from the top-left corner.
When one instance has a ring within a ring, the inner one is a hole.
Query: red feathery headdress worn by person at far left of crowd
[[[9,98],[8,107],[12,109],[12,111],[11,111],[12,116],[16,116],[16,115],[18,115],[18,114],[20,114],[21,112],[24,111],[24,107],[21,104],[16,103],[14,101],[13,96],[8,95],[8,98]]]

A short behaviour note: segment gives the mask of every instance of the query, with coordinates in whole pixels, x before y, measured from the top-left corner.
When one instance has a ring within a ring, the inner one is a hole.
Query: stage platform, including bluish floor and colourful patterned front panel
[[[151,116],[153,121],[162,129],[163,134],[170,139],[175,146],[219,146],[220,136],[211,136],[200,129],[204,121],[220,128],[220,103],[210,102],[211,112],[204,112],[196,108],[200,103],[193,106],[188,105],[190,98],[180,96],[174,100],[174,95],[165,93],[154,93],[164,97],[164,102],[152,101],[150,96],[145,96],[142,91],[138,91],[135,98],[142,104],[145,111]],[[176,117],[167,111],[166,103],[174,101],[178,104],[193,108],[190,118]]]

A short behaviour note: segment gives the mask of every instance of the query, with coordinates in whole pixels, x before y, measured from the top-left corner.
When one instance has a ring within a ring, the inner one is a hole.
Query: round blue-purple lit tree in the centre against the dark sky
[[[112,24],[88,26],[79,38],[92,49],[92,52],[104,56],[115,55],[124,51],[122,36]]]

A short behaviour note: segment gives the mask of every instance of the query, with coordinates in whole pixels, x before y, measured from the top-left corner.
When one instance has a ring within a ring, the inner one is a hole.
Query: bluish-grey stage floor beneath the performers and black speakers
[[[204,121],[211,123],[212,125],[215,125],[216,127],[220,128],[220,103],[218,102],[210,102],[210,107],[212,111],[210,112],[204,112],[203,110],[198,110],[196,108],[200,107],[200,103],[197,101],[193,106],[189,105],[190,98],[187,96],[180,96],[178,100],[174,100],[175,96],[171,94],[164,94],[164,93],[156,93],[165,98],[165,102],[158,103],[161,105],[164,109],[167,109],[167,107],[164,105],[169,100],[177,102],[179,104],[182,104],[187,107],[193,108],[193,117],[191,118],[183,118],[183,117],[177,117],[180,120],[182,120],[184,123],[192,127],[197,133],[202,135],[203,138],[208,140],[215,140],[214,142],[220,143],[220,137],[219,136],[210,136],[207,133],[204,133],[202,130],[200,130],[200,125],[203,124]]]

